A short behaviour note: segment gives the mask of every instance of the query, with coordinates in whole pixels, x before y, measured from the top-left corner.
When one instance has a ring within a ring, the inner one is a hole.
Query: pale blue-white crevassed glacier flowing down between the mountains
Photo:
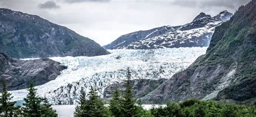
[[[109,55],[94,57],[51,57],[68,69],[55,80],[36,86],[39,96],[45,96],[52,104],[76,104],[82,87],[89,92],[94,83],[103,96],[106,86],[124,81],[127,67],[132,71],[132,79],[169,79],[205,54],[206,47],[109,51]],[[26,89],[10,92],[14,100],[22,100],[27,94]]]

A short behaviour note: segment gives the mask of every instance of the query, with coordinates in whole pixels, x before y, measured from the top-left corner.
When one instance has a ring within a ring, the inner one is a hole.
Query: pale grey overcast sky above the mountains
[[[0,8],[36,14],[106,45],[120,35],[184,25],[200,12],[234,12],[250,0],[0,0]]]

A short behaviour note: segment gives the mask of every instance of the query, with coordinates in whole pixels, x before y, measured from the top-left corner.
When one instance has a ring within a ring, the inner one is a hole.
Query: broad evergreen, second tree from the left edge
[[[25,104],[22,107],[24,116],[57,116],[46,98],[36,96],[36,89],[30,82],[29,94],[24,98]]]

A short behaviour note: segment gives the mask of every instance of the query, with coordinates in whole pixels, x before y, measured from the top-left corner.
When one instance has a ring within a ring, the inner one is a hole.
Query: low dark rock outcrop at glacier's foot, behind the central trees
[[[158,79],[158,80],[153,80],[153,79],[133,79],[131,80],[131,86],[134,94],[134,98],[138,99],[143,96],[145,96],[147,93],[153,91],[156,89],[161,83],[166,81],[167,79]],[[112,97],[112,94],[114,90],[118,88],[118,90],[124,94],[125,92],[125,82],[122,83],[116,83],[109,85],[105,88],[104,90],[104,99],[105,100],[110,100]]]

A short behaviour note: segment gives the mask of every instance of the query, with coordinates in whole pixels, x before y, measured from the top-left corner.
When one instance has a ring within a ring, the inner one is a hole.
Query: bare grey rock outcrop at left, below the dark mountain
[[[6,80],[7,90],[25,89],[30,79],[34,85],[42,85],[55,79],[67,67],[49,58],[19,60],[0,53],[0,81]],[[0,85],[2,91],[2,85]]]

